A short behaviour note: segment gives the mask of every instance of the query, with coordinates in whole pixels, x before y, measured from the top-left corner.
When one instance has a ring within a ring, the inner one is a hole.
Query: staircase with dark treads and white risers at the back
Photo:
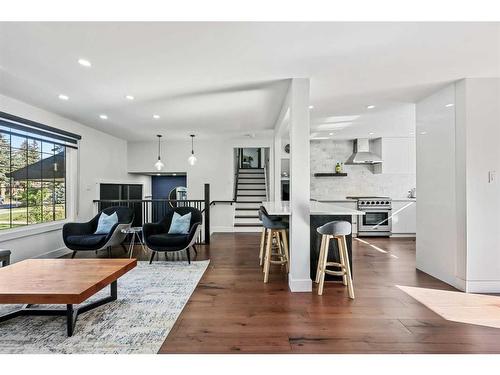
[[[236,189],[235,231],[260,230],[259,207],[267,199],[264,169],[240,169]]]

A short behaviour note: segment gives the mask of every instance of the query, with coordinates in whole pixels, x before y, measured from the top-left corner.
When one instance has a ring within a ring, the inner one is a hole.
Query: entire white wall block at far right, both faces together
[[[498,78],[417,104],[417,267],[468,292],[500,292],[499,124]]]

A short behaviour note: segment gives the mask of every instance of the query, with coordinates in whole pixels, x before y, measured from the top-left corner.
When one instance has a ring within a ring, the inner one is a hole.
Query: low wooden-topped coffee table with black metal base
[[[24,315],[66,316],[72,336],[78,315],[115,301],[118,278],[136,265],[135,259],[28,259],[0,268],[0,304],[24,304],[0,316],[0,322]],[[73,307],[107,285],[110,296]],[[64,304],[66,309],[31,307],[46,304]]]

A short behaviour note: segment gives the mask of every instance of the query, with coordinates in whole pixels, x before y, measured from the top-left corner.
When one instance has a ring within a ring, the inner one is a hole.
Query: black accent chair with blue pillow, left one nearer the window
[[[111,247],[121,245],[125,237],[122,229],[129,228],[134,221],[134,211],[128,207],[108,207],[103,209],[106,215],[116,212],[118,223],[116,223],[108,234],[94,234],[97,230],[99,216],[97,214],[92,220],[86,223],[66,223],[63,226],[63,241],[66,247],[73,250],[72,258],[78,251],[99,251],[108,250],[111,257]]]

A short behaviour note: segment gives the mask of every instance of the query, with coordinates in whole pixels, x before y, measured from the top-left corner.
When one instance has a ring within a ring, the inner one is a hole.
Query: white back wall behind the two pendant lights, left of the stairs
[[[266,138],[212,138],[195,139],[196,165],[188,164],[191,140],[163,138],[163,172],[186,172],[188,198],[203,199],[204,184],[210,184],[210,200],[232,200],[234,195],[234,148],[271,147],[272,139]],[[129,142],[128,171],[154,173],[157,159],[157,142]],[[272,165],[272,163],[271,163]],[[149,180],[150,181],[150,180]],[[150,182],[149,182],[150,183]],[[219,204],[211,207],[211,232],[233,231],[234,205]]]

